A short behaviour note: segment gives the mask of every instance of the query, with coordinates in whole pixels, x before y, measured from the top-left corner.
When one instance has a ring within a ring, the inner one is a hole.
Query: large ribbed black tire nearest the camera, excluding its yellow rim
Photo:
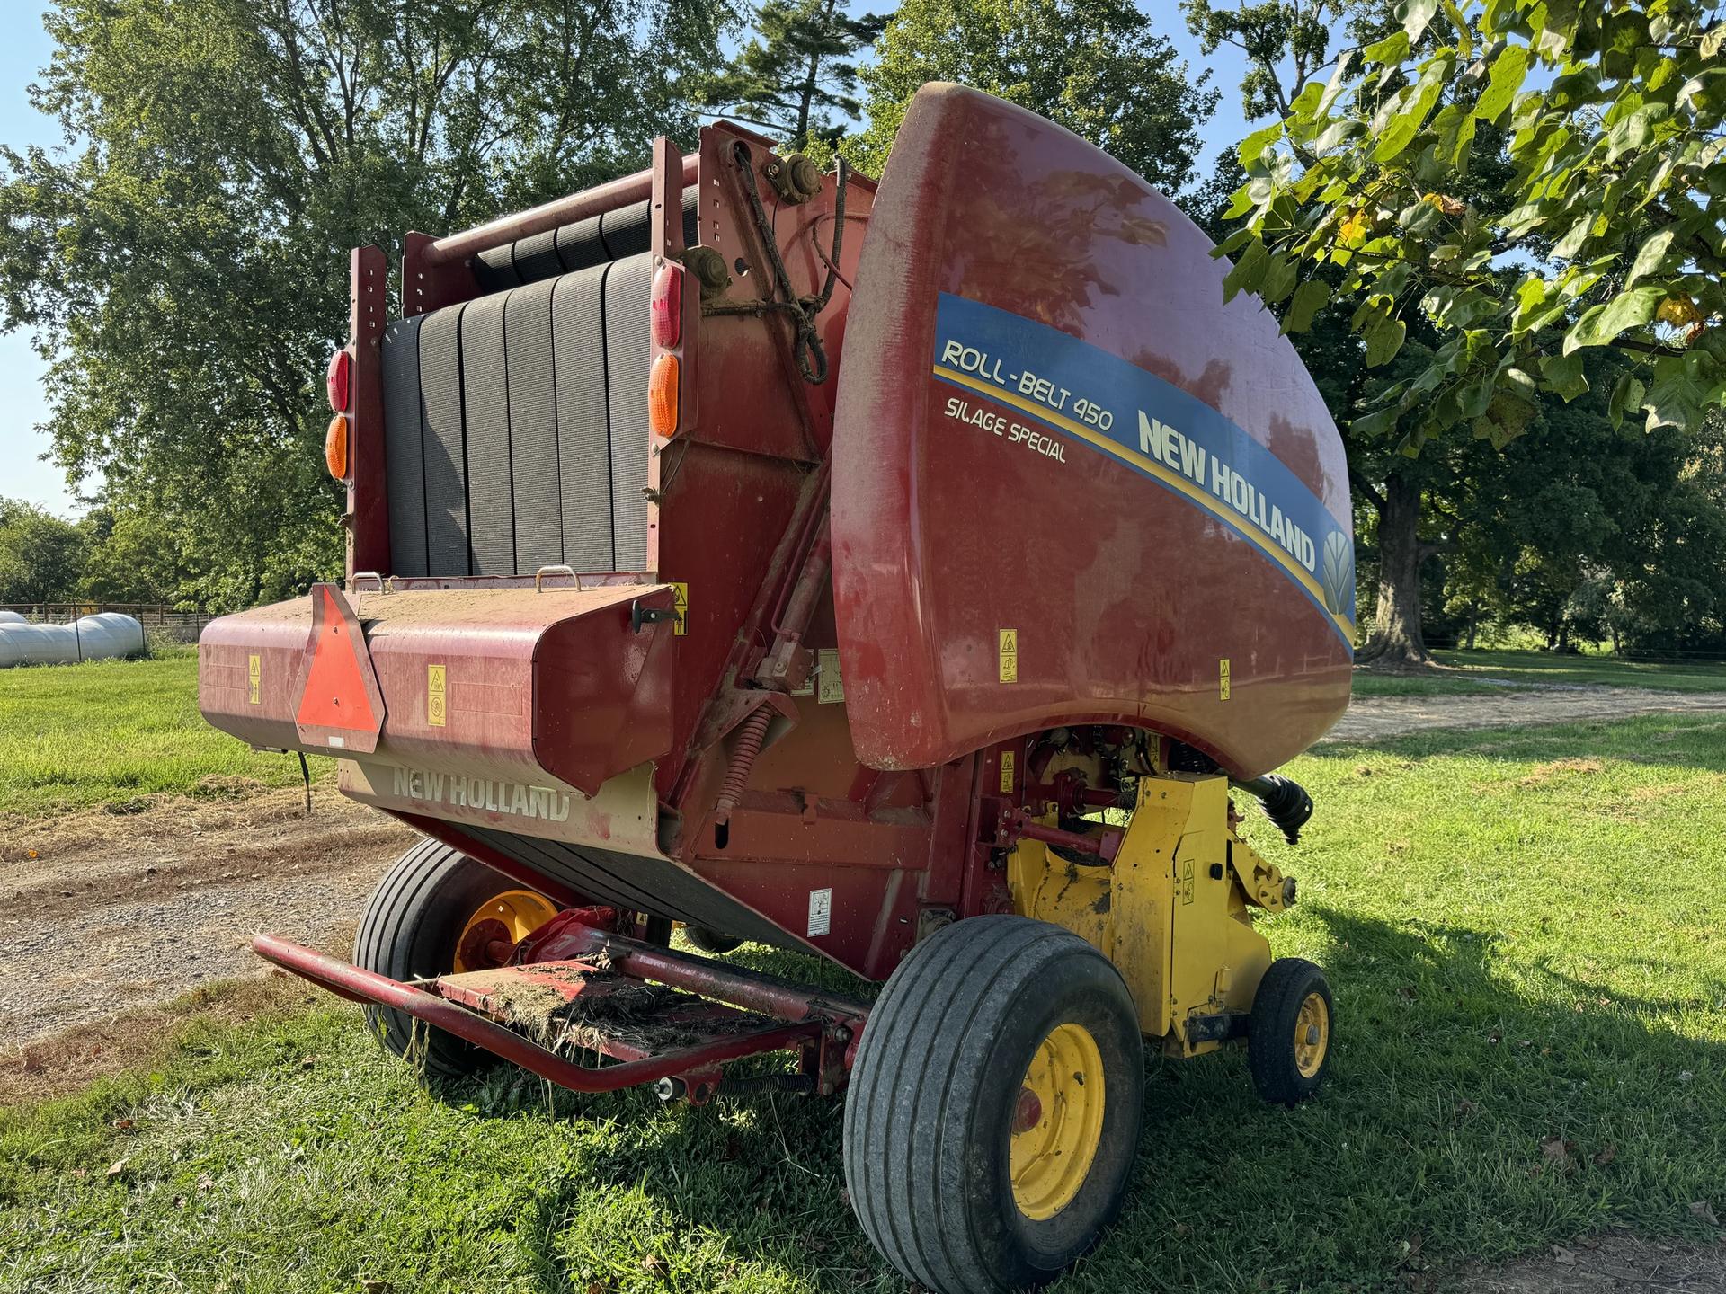
[[[1091,1032],[1103,1059],[1101,1140],[1074,1201],[1032,1220],[1008,1177],[1011,1118],[1025,1068],[1067,1021]],[[937,930],[887,980],[846,1094],[846,1189],[868,1239],[937,1294],[1058,1277],[1125,1197],[1144,1106],[1143,1047],[1120,971],[1070,930],[1024,916]]]

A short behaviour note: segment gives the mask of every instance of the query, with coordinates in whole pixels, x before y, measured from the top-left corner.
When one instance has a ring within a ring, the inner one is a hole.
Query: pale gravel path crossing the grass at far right
[[[1358,697],[1326,742],[1374,742],[1415,728],[1509,728],[1529,723],[1619,719],[1652,711],[1723,711],[1726,692],[1636,687],[1543,687],[1491,695]]]

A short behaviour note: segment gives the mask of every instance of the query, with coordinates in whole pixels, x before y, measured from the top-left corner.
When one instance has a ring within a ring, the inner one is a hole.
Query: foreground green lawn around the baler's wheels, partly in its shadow
[[[1300,1109],[1148,1059],[1120,1225],[1063,1294],[1402,1291],[1412,1270],[1726,1215],[1726,721],[1433,732],[1291,773],[1267,923],[1339,1040]],[[785,970],[782,958],[778,970]],[[0,1289],[899,1291],[841,1106],[416,1089],[352,1008],[193,1023],[150,1073],[0,1113]],[[109,1166],[123,1168],[109,1175]]]

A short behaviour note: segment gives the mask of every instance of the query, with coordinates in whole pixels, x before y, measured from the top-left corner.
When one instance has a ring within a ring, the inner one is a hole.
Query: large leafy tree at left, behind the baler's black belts
[[[319,445],[347,255],[644,164],[692,133],[718,0],[64,0],[0,150],[0,324],[48,357],[69,478],[152,509],[217,607],[342,566]]]

